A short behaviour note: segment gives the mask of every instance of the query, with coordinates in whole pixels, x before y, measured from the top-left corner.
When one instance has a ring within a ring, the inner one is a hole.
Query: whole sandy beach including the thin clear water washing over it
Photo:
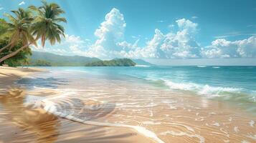
[[[1,67],[0,142],[256,142],[229,102],[67,69]]]

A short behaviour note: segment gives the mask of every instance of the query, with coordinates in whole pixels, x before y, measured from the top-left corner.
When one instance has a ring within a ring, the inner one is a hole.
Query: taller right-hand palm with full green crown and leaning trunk
[[[35,41],[41,39],[42,46],[44,46],[46,40],[49,40],[49,43],[52,45],[55,44],[56,41],[60,43],[60,36],[65,36],[65,34],[64,27],[58,24],[58,22],[67,22],[65,18],[60,17],[60,14],[64,14],[65,12],[58,4],[47,4],[46,1],[42,1],[42,4],[43,6],[39,6],[38,8],[35,6],[29,6],[29,9],[32,9],[38,14],[34,16],[34,21],[29,26],[29,34],[36,37]],[[20,49],[2,57],[0,59],[0,63],[19,53],[19,51],[29,47],[31,44],[34,44],[34,42],[30,41]]]

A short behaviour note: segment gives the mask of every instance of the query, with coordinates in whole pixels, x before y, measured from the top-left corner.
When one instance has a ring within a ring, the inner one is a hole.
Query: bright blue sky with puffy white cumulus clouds
[[[65,10],[62,55],[145,59],[154,64],[256,65],[255,0],[48,0]],[[0,18],[36,0],[0,0]],[[6,18],[5,18],[6,19]]]

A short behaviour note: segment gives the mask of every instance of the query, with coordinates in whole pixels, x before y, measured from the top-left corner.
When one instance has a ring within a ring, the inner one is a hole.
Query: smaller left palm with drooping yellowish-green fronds
[[[0,52],[4,51],[4,49],[8,47],[10,47],[11,50],[11,48],[19,40],[21,40],[24,45],[28,44],[29,42],[36,44],[32,34],[29,32],[29,24],[31,24],[33,20],[31,11],[19,8],[18,11],[11,12],[13,12],[15,16],[12,16],[11,14],[5,14],[5,16],[7,16],[10,21],[7,24],[7,32],[9,35],[11,35],[10,41],[9,44],[0,49]]]

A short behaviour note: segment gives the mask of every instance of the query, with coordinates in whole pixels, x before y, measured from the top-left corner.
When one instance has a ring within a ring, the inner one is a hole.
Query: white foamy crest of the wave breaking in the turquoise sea
[[[175,83],[169,80],[164,80],[166,85],[171,89],[179,89],[185,91],[193,91],[200,95],[206,95],[207,97],[218,97],[225,92],[240,93],[242,89],[232,87],[211,87],[208,84],[194,84],[194,83]]]

